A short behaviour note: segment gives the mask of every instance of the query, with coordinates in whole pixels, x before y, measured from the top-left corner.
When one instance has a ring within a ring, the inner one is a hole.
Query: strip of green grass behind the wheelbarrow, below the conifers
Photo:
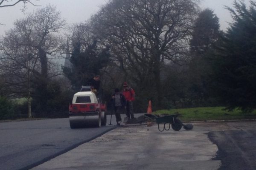
[[[256,111],[253,111],[253,113],[242,113],[239,109],[227,111],[224,107],[160,110],[155,111],[153,114],[176,113],[180,113],[179,119],[182,121],[256,119]]]

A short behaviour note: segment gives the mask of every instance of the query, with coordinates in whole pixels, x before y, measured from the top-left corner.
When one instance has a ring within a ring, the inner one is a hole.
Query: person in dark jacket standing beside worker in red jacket
[[[120,125],[122,122],[121,112],[122,108],[125,106],[125,96],[119,92],[119,88],[115,89],[115,93],[112,95],[112,101],[115,113],[116,113],[116,124]]]

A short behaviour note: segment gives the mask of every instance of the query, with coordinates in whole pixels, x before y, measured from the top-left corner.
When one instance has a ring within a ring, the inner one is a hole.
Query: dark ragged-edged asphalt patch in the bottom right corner
[[[208,137],[218,146],[219,170],[256,170],[255,130],[212,131]]]

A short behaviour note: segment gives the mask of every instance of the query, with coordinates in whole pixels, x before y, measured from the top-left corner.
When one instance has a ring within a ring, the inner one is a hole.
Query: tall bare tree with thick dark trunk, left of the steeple
[[[28,18],[31,21],[32,32],[23,30],[26,34],[31,35],[29,41],[36,49],[36,54],[40,62],[40,74],[36,76],[38,81],[36,86],[36,96],[41,105],[41,110],[44,111],[47,105],[47,85],[52,76],[49,74],[49,59],[48,57],[58,57],[58,52],[62,51],[62,40],[58,36],[58,32],[65,25],[65,20],[61,18],[60,11],[56,7],[47,5],[38,11],[31,14]],[[60,74],[60,73],[59,73]]]

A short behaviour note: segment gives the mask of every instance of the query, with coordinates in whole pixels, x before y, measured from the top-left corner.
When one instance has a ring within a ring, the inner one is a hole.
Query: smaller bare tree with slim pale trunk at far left
[[[9,37],[10,38],[10,37]],[[4,40],[5,52],[10,52],[14,45],[12,40]],[[2,45],[1,49],[2,49]],[[31,50],[22,44],[15,46],[15,55],[3,55],[0,62],[1,70],[4,72],[3,85],[5,90],[9,92],[9,95],[13,97],[26,97],[28,101],[29,118],[32,117],[31,113],[31,79],[32,74],[37,72],[38,61],[32,57]],[[9,53],[10,54],[10,53]],[[13,53],[12,53],[13,54]]]

